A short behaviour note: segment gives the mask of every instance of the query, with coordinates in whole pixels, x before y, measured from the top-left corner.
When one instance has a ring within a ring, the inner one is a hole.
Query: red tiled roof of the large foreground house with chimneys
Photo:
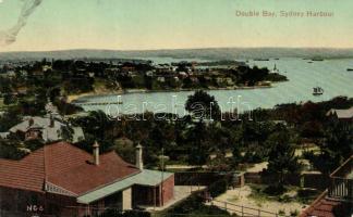
[[[77,195],[139,173],[115,152],[100,155],[100,164],[89,164],[92,154],[58,142],[46,145],[21,161],[0,159],[0,186],[44,191],[47,180]]]

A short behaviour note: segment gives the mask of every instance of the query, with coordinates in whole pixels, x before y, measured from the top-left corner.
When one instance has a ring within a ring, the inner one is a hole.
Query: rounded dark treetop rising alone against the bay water
[[[185,110],[194,115],[196,119],[212,119],[220,115],[220,107],[215,97],[203,90],[197,90],[193,95],[188,95]]]

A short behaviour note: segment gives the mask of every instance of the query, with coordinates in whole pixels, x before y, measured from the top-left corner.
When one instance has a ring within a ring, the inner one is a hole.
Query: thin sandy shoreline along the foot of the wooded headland
[[[273,84],[273,82],[272,82]],[[232,88],[198,88],[198,89],[172,89],[172,90],[147,90],[147,89],[126,89],[126,90],[113,90],[113,91],[90,91],[78,94],[69,94],[68,103],[75,103],[76,100],[85,97],[104,97],[104,95],[114,95],[114,94],[132,94],[132,93],[154,93],[154,92],[182,92],[182,91],[196,91],[196,90],[253,90],[263,88],[273,88],[270,86],[249,86],[249,87],[232,87]]]

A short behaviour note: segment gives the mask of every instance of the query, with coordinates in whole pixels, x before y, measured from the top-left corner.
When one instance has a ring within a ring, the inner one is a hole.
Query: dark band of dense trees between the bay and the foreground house
[[[40,101],[42,98],[37,99]],[[352,124],[332,119],[326,114],[332,107],[353,106],[353,99],[340,97],[319,103],[282,104],[271,110],[258,108],[244,114],[235,114],[234,111],[235,115],[220,114],[217,101],[205,91],[196,91],[190,97],[185,107],[192,108],[190,105],[194,102],[207,106],[211,102],[212,108],[208,106],[206,110],[215,112],[216,117],[211,120],[211,113],[206,112],[203,119],[195,119],[193,115],[181,118],[163,113],[112,118],[102,111],[96,111],[88,116],[71,118],[70,123],[83,128],[86,140],[77,146],[87,152],[92,152],[92,144],[98,141],[102,152],[115,150],[133,163],[134,146],[141,143],[147,167],[160,164],[163,149],[163,154],[173,164],[206,164],[209,169],[231,170],[240,163],[268,161],[268,173],[283,177],[300,169],[293,152],[306,142],[317,144],[320,152],[304,152],[304,157],[324,173],[332,171],[352,154]],[[10,106],[5,115],[0,116],[1,131],[19,123],[22,115],[42,111],[20,103]],[[194,114],[195,111],[190,112]],[[232,115],[238,119],[230,118]],[[121,143],[121,139],[131,142]],[[210,155],[216,157],[211,158]],[[17,155],[14,154],[14,157],[17,158]]]

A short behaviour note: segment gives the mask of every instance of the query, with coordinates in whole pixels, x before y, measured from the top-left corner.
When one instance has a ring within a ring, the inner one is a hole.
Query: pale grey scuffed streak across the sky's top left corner
[[[1,0],[0,0],[1,1]],[[27,24],[27,20],[42,2],[42,0],[21,0],[23,7],[17,20],[17,23],[8,30],[0,30],[0,46],[9,46],[16,41],[20,30]]]

